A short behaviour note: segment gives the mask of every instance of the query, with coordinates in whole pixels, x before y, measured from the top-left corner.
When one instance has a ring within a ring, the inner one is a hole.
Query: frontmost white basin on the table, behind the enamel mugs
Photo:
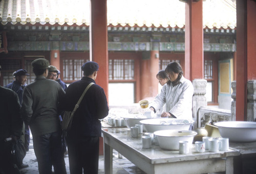
[[[167,150],[179,150],[179,141],[188,141],[192,144],[196,132],[191,130],[158,130],[154,132],[158,144]]]

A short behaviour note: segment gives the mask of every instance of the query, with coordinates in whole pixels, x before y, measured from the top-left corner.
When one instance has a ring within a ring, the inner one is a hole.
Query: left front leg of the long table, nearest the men
[[[113,173],[113,148],[104,143],[104,171],[105,174]]]

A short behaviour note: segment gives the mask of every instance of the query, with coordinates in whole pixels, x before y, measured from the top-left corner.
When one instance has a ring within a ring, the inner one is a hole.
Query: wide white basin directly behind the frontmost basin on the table
[[[193,124],[193,122],[194,120],[185,120],[177,118],[156,118],[140,121],[140,123],[144,125],[146,131],[149,133],[154,133],[157,130],[188,130],[190,125]]]

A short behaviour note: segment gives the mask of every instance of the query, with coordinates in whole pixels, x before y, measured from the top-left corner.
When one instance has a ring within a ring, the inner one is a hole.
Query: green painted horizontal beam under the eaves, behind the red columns
[[[59,43],[59,45],[57,44]],[[206,48],[207,47],[207,48]],[[109,42],[109,51],[185,51],[181,42]],[[89,51],[89,41],[9,41],[9,51]],[[234,52],[235,44],[204,44],[207,52]]]

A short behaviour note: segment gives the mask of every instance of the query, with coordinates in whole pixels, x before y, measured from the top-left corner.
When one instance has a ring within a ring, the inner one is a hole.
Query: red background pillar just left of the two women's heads
[[[151,51],[150,55],[144,55],[141,62],[141,95],[144,98],[153,98],[158,94],[158,81],[156,75],[159,71],[159,51]],[[147,57],[149,56],[149,57]]]

